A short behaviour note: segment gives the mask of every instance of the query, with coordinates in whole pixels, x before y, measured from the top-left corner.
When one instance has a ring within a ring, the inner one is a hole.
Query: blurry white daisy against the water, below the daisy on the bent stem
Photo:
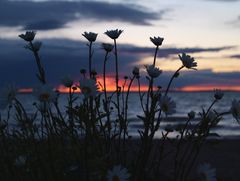
[[[168,96],[160,97],[159,104],[165,114],[173,114],[176,112],[176,103]]]

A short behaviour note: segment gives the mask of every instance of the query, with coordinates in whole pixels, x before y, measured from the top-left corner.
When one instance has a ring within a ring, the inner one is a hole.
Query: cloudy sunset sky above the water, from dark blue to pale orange
[[[174,82],[177,90],[240,91],[240,0],[0,0],[0,81],[19,88],[38,85],[37,67],[18,35],[36,30],[47,81],[58,87],[64,75],[75,82],[88,67],[84,31],[98,33],[93,67],[101,80],[104,52],[101,43],[112,43],[103,33],[124,32],[119,43],[120,76],[131,76],[134,66],[152,64],[150,36],[164,37],[157,66],[163,74],[155,85],[165,87],[181,66],[178,54],[195,57],[198,71],[184,69]],[[109,85],[114,84],[114,56],[108,60]]]

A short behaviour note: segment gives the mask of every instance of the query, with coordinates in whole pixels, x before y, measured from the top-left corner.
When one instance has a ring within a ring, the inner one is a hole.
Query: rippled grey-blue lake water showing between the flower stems
[[[176,113],[169,116],[174,117],[177,121],[164,121],[162,126],[166,126],[167,124],[170,125],[177,125],[183,123],[182,117],[187,117],[187,113],[191,110],[199,113],[202,108],[207,109],[209,105],[213,101],[213,92],[170,92],[169,96],[176,102]],[[36,98],[32,94],[20,94],[18,95],[18,99],[23,103],[24,107],[26,108],[27,112],[33,112],[32,104],[36,102]],[[214,105],[214,109],[220,113],[224,111],[228,111],[231,107],[231,102],[233,99],[240,100],[240,92],[225,92],[224,97]],[[67,94],[60,95],[60,107],[61,110],[64,112],[65,105],[67,103]],[[142,123],[141,121],[137,120],[137,115],[143,115],[139,96],[138,93],[130,93],[129,96],[129,109],[128,109],[128,117],[130,123],[130,135],[136,136],[137,130],[141,129]],[[2,117],[6,116],[6,110],[1,111]],[[180,117],[180,118],[179,118]],[[196,114],[198,117],[198,114]],[[178,119],[179,118],[179,119]],[[179,122],[179,121],[180,122]],[[232,137],[232,136],[240,136],[240,124],[234,120],[231,115],[227,115],[223,117],[223,120],[219,123],[218,127],[213,130],[223,136],[224,138]],[[160,135],[160,132],[157,133],[157,136]],[[174,133],[173,133],[174,135]]]

